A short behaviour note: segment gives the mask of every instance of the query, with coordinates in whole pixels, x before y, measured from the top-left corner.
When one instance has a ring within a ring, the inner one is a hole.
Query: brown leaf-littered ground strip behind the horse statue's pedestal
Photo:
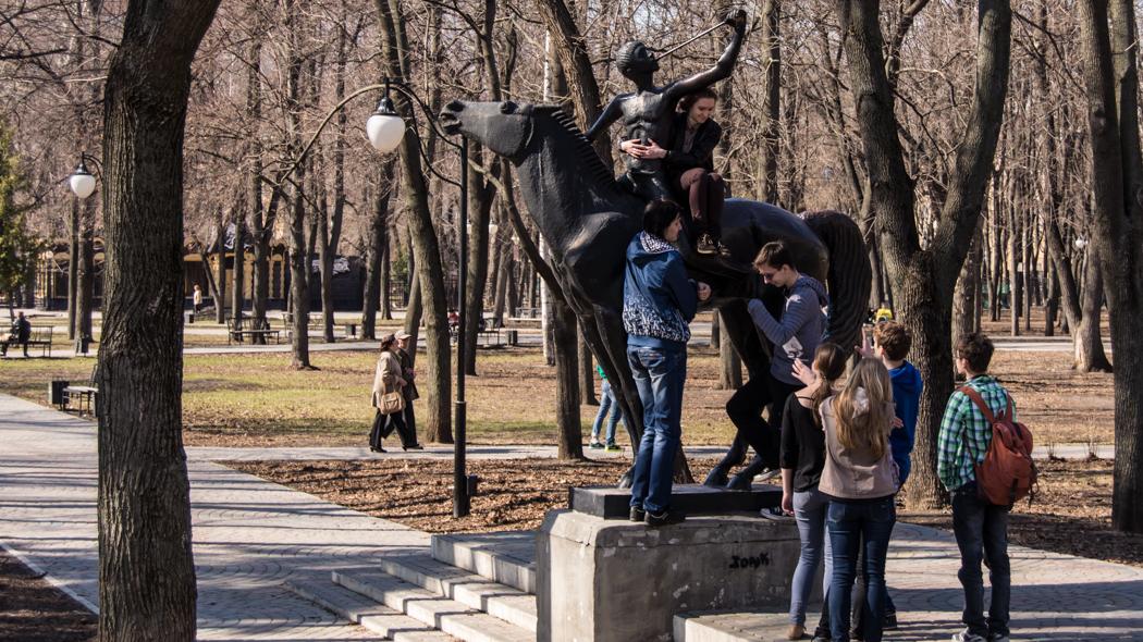
[[[714,459],[693,459],[702,479]],[[328,501],[430,532],[485,532],[538,528],[544,514],[567,506],[573,485],[615,483],[630,462],[568,463],[552,459],[470,460],[480,476],[472,514],[451,517],[450,462],[230,463],[231,467]],[[1031,507],[1016,506],[1009,539],[1021,546],[1143,567],[1143,536],[1111,529],[1112,463],[1042,462],[1040,491]],[[903,511],[903,521],[952,529],[951,514]]]

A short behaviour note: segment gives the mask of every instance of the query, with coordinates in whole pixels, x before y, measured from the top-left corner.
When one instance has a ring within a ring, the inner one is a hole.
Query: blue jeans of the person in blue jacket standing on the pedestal
[[[631,505],[660,513],[671,503],[674,455],[682,439],[687,350],[629,346],[628,362],[644,407],[644,434],[636,451]]]

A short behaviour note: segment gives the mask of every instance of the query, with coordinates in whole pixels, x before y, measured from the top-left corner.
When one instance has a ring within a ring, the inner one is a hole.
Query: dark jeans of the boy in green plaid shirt
[[[960,578],[965,587],[965,625],[969,633],[1008,635],[1012,602],[1012,568],[1008,564],[1008,507],[993,506],[976,496],[972,481],[952,491],[952,532],[960,548]],[[989,567],[992,602],[984,618],[984,578],[981,562]]]

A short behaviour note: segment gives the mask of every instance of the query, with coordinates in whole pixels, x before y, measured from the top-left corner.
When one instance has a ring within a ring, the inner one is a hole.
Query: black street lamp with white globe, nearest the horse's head
[[[377,110],[366,122],[366,133],[369,135],[369,143],[374,146],[374,149],[382,153],[390,153],[401,143],[401,139],[405,137],[406,128],[405,120],[393,109],[393,102],[389,98],[389,90],[391,87],[398,89],[419,104],[422,110],[425,112],[425,118],[427,118],[431,122],[435,122],[435,120],[433,114],[429,113],[424,103],[422,103],[415,94],[401,83],[385,80],[384,85],[375,86],[375,88],[378,89],[382,87],[384,88],[385,94],[377,104]],[[358,90],[358,93],[362,93],[368,89],[369,88],[362,88]],[[352,98],[352,96],[350,97]],[[347,99],[349,98],[346,98],[346,101]],[[344,105],[344,102],[342,104]],[[457,145],[443,136],[441,136],[441,139],[456,147],[461,155],[461,180],[458,183],[440,175],[438,175],[438,177],[446,183],[456,185],[461,188],[461,220],[458,225],[459,256],[457,257],[458,274],[456,294],[456,308],[458,311],[461,322],[459,331],[456,332],[456,400],[454,402],[454,423],[456,425],[456,434],[453,448],[453,516],[463,517],[471,511],[470,479],[466,472],[465,460],[467,444],[467,409],[464,399],[464,359],[467,354],[465,352],[467,350],[467,345],[464,331],[464,329],[467,328],[467,312],[464,305],[464,299],[469,276],[469,141],[464,136],[461,136],[461,143]],[[435,174],[432,166],[430,166],[430,170]]]

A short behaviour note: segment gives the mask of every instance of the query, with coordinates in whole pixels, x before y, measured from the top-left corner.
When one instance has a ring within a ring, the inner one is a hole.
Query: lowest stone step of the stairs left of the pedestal
[[[394,642],[455,642],[455,637],[437,631],[400,611],[378,604],[359,593],[338,586],[328,576],[288,580],[290,592],[354,624]]]

